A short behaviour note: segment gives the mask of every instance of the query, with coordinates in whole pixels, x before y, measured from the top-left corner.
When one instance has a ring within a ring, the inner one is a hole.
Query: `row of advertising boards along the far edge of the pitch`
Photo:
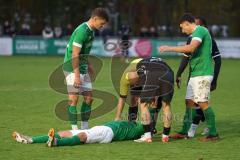
[[[0,55],[13,54],[40,54],[63,55],[65,54],[68,39],[43,39],[41,37],[14,37],[0,38]],[[186,39],[142,39],[135,38],[129,41],[121,41],[117,38],[109,38],[105,43],[101,38],[93,42],[91,54],[96,56],[111,57],[124,55],[129,57],[148,56],[180,56],[180,53],[160,53],[158,48],[162,45],[184,45]],[[220,53],[223,58],[240,58],[240,40],[217,40]]]

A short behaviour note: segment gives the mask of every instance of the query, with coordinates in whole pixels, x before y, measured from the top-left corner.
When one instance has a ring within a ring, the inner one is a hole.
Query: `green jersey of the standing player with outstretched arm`
[[[190,76],[213,75],[212,38],[205,27],[197,26],[192,33],[192,40],[200,41],[200,46],[190,57]]]

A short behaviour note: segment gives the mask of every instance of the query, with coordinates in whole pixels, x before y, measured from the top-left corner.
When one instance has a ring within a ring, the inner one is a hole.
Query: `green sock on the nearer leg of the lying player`
[[[71,138],[62,138],[57,140],[57,146],[74,146],[80,144],[83,144],[83,142],[80,141],[77,135]]]

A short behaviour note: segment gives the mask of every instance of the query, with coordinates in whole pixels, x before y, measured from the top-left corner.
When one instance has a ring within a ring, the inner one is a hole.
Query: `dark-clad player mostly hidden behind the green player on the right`
[[[196,17],[195,23],[197,25],[207,27],[207,22],[203,17]],[[187,44],[190,44],[191,40],[192,40],[192,36],[189,36]],[[219,52],[217,43],[213,39],[213,37],[212,37],[212,59],[214,60],[214,76],[213,76],[213,80],[211,82],[210,90],[214,91],[217,88],[217,79],[218,79],[218,75],[219,75],[220,68],[221,68],[221,54]],[[181,64],[178,68],[177,75],[176,75],[176,83],[178,85],[178,88],[180,88],[181,75],[182,75],[183,71],[185,70],[185,68],[187,67],[189,60],[190,60],[190,56],[188,56],[187,54],[184,54]],[[197,104],[196,104],[196,106],[197,106]],[[195,112],[195,110],[193,110],[193,112]],[[193,118],[193,121],[188,130],[188,133],[187,133],[187,129],[185,131],[180,132],[180,133],[183,133],[184,135],[188,135],[188,137],[194,137],[196,129],[197,129],[200,121],[202,121],[202,122],[205,121],[205,116],[204,116],[201,108],[199,108],[199,107],[196,108],[196,116],[192,117],[192,118]],[[206,127],[204,129],[202,135],[207,135],[208,132],[209,132],[209,129]]]

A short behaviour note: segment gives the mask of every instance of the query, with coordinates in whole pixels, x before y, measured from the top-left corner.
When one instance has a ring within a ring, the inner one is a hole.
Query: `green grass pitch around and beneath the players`
[[[176,72],[180,59],[165,60]],[[70,129],[69,123],[57,118],[54,112],[55,105],[66,99],[66,95],[55,92],[48,85],[50,74],[62,61],[63,57],[0,57],[0,159],[240,159],[240,60],[223,60],[218,88],[211,96],[220,141],[198,141],[205,124],[198,129],[196,138],[167,144],[160,141],[159,135],[154,137],[151,144],[124,141],[57,148],[13,141],[11,134],[15,130],[26,135],[39,135],[47,134],[51,127]],[[94,87],[117,95],[110,80],[110,61],[103,59],[103,62]],[[178,131],[182,124],[187,72],[183,75],[182,88],[175,87],[172,111],[176,118],[171,133]],[[96,100],[93,107],[98,103]],[[91,120],[90,126],[111,121],[114,116],[115,110]],[[160,121],[157,128],[161,132]]]

